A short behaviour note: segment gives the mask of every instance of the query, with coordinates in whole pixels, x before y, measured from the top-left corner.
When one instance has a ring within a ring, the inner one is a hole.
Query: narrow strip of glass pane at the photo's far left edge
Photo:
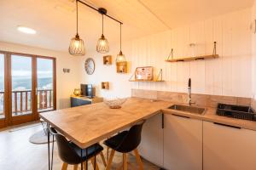
[[[4,104],[4,55],[0,54],[0,119],[4,118],[3,104]]]

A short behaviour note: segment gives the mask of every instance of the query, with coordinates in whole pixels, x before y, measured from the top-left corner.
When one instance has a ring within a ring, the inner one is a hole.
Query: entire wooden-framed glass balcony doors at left
[[[0,53],[0,127],[38,120],[55,110],[55,59]]]

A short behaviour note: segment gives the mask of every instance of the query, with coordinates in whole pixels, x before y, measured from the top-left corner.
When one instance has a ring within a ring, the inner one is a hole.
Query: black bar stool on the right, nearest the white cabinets
[[[140,122],[137,125],[132,126],[129,131],[123,131],[104,141],[104,144],[112,149],[108,159],[106,170],[109,170],[111,167],[115,151],[123,153],[124,170],[127,170],[127,153],[131,151],[134,151],[137,163],[139,165],[139,169],[143,170],[143,161],[139,156],[137,146],[141,143],[141,134],[144,122],[145,121]]]

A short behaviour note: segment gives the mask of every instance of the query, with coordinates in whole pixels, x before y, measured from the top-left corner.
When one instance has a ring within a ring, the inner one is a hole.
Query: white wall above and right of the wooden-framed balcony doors
[[[57,109],[70,106],[70,95],[74,88],[79,88],[80,70],[78,69],[79,58],[68,53],[52,51],[43,48],[32,48],[24,45],[0,42],[0,50],[24,54],[38,54],[56,58],[56,99]],[[70,73],[63,73],[63,68],[69,68]]]

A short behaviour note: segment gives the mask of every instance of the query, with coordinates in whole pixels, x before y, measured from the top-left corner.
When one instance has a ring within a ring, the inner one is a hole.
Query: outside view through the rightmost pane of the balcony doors
[[[53,60],[37,59],[38,111],[53,109]]]

